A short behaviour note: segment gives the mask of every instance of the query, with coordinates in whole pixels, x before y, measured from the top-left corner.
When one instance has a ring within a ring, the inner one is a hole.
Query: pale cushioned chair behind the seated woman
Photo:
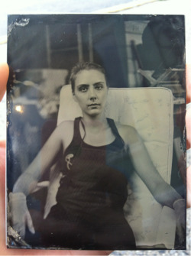
[[[70,86],[63,86],[57,125],[80,115],[82,112],[73,100]],[[173,157],[172,92],[159,87],[109,89],[105,115],[115,122],[137,129],[154,166],[163,179],[170,183]],[[57,203],[55,196],[60,177],[59,167],[54,166],[50,172],[44,218],[51,206]],[[173,209],[160,206],[138,175],[134,174],[129,191],[124,208],[125,217],[134,231],[138,247],[162,245],[162,248],[173,248],[176,229]]]

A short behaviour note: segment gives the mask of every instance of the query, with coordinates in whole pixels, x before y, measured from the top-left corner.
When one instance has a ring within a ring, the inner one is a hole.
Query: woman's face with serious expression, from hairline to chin
[[[76,75],[74,99],[83,115],[100,115],[105,108],[108,87],[105,75],[99,70],[82,70]]]

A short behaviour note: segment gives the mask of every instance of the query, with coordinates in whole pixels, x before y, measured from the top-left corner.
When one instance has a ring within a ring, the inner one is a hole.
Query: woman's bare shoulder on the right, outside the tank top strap
[[[131,125],[121,125],[120,123],[116,123],[116,126],[118,128],[118,133],[125,141],[125,144],[134,144],[140,141],[138,131]]]

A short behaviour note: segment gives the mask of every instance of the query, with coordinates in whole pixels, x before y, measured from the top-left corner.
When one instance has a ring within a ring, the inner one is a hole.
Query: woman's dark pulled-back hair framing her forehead
[[[73,69],[71,70],[71,74],[70,74],[70,83],[72,86],[73,94],[74,94],[74,89],[75,89],[75,81],[76,81],[77,73],[79,73],[80,71],[83,71],[83,70],[98,70],[99,72],[104,74],[105,80],[107,83],[105,69],[102,66],[100,66],[99,64],[92,63],[92,62],[76,63],[76,65],[73,66]],[[107,83],[107,86],[108,86],[108,83]]]

